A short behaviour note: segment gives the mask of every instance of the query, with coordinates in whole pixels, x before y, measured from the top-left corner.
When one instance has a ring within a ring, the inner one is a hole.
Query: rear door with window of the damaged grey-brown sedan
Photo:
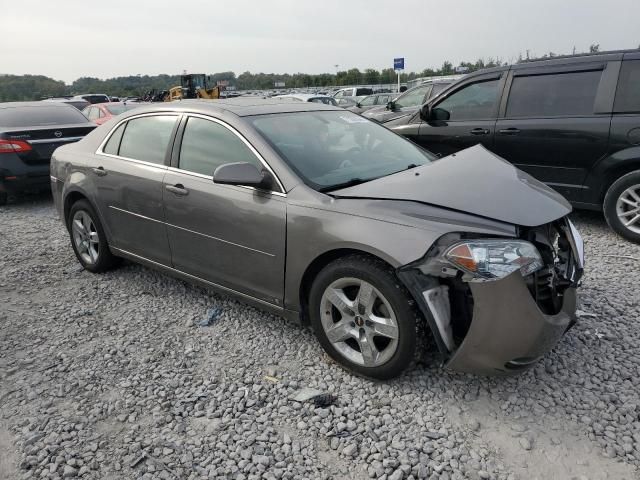
[[[146,114],[121,123],[89,169],[113,246],[163,265],[171,253],[162,181],[178,118]]]

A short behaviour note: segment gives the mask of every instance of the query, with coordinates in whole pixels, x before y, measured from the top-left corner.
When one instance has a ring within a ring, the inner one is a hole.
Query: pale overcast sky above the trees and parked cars
[[[640,0],[0,0],[0,73],[408,71],[637,48]]]

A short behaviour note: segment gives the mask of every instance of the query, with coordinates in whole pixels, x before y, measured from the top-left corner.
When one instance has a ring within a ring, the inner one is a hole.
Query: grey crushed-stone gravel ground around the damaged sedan
[[[640,478],[640,246],[575,220],[581,322],[543,362],[379,383],[225,296],[81,270],[48,196],[1,207],[0,478]]]

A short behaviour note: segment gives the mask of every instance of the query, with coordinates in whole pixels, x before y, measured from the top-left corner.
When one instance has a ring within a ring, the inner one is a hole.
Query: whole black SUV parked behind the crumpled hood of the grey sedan
[[[640,51],[467,75],[385,126],[447,155],[482,143],[640,242]]]

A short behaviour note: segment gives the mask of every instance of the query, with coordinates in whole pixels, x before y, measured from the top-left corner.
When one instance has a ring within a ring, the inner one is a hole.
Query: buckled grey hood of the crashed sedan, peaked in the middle
[[[481,145],[331,195],[409,200],[528,227],[571,212],[562,195]]]

